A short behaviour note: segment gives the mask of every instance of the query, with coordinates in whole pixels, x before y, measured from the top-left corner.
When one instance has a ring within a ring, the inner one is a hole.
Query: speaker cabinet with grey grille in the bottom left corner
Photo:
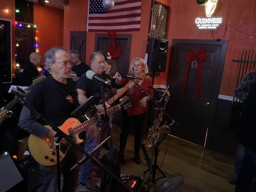
[[[6,192],[23,180],[8,153],[0,155],[0,192]]]

